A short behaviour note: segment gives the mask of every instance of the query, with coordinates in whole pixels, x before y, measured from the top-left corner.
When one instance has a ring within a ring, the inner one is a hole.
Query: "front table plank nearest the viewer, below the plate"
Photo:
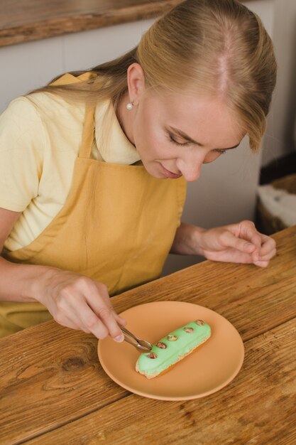
[[[160,402],[131,395],[26,444],[294,445],[296,318],[245,347],[239,375],[209,397]]]

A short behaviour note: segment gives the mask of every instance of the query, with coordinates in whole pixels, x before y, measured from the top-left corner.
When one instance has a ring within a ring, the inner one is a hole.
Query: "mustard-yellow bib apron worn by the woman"
[[[91,159],[93,140],[94,108],[87,108],[65,205],[30,245],[4,256],[11,262],[84,274],[106,284],[114,295],[160,276],[179,224],[186,183],[183,178],[153,178],[143,166]],[[38,302],[0,302],[0,336],[50,318]]]

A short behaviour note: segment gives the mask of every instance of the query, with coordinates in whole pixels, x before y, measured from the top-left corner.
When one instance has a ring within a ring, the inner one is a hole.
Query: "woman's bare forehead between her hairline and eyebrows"
[[[205,146],[234,146],[244,135],[239,118],[219,97],[162,93],[148,97],[148,107],[165,127],[180,129]]]

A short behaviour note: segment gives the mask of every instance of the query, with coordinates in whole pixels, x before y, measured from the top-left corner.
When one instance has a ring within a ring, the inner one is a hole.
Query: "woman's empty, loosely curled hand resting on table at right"
[[[199,252],[221,262],[253,263],[267,267],[275,256],[275,240],[256,230],[251,221],[198,232]]]

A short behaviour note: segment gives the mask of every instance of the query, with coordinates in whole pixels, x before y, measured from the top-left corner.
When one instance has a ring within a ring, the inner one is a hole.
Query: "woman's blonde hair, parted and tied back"
[[[68,98],[117,107],[126,72],[139,63],[155,90],[218,95],[239,119],[256,151],[265,132],[276,80],[273,43],[260,18],[236,0],[185,0],[160,17],[140,43],[78,84],[40,88]],[[80,75],[77,71],[72,75]]]

